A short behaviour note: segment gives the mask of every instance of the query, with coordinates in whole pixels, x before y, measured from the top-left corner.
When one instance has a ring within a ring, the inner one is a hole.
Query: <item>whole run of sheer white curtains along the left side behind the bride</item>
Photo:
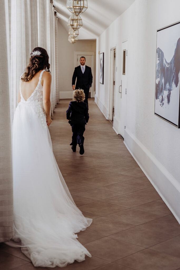
[[[51,114],[59,102],[57,17],[51,0],[2,0],[0,9],[0,242],[13,237],[11,125],[19,80],[35,47],[49,55]]]

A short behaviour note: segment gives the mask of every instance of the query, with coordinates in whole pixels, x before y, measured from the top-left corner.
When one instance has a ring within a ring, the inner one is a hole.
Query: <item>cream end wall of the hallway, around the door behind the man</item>
[[[74,53],[75,51],[95,52],[96,55],[96,40],[78,40],[72,44],[68,41],[68,32],[59,22],[57,22],[57,35],[60,98],[72,98]]]

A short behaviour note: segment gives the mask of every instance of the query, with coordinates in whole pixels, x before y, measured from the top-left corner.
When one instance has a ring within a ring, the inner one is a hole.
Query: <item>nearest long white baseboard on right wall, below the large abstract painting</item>
[[[180,184],[127,128],[124,137],[128,151],[180,224]]]

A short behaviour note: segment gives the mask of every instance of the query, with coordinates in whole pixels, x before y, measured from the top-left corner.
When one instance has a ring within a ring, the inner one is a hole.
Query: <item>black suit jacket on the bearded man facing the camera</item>
[[[76,82],[77,77],[77,82]],[[83,85],[85,86],[84,92],[89,92],[89,88],[92,86],[93,75],[91,72],[91,68],[89,66],[85,66],[84,73],[82,73],[81,66],[77,66],[74,69],[73,77],[72,77],[72,86],[75,85],[76,89],[83,89]]]

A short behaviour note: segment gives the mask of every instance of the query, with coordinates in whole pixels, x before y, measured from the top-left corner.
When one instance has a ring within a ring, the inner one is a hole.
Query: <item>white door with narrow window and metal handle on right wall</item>
[[[119,86],[120,96],[120,134],[124,138],[124,129],[126,122],[126,94],[127,94],[127,56],[128,41],[122,43],[121,49],[121,83]]]

